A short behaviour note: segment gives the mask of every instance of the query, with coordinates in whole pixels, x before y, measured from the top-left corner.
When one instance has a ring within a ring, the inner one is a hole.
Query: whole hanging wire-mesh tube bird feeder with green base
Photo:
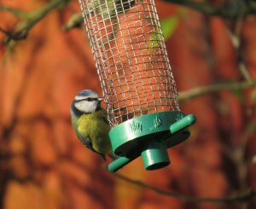
[[[119,158],[142,156],[146,170],[170,164],[167,148],[189,137],[193,114],[179,109],[177,88],[154,0],[79,0]]]

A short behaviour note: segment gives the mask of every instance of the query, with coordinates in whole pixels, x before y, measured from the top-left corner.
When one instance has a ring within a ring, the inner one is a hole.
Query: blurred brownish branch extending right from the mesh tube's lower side
[[[207,86],[195,87],[191,90],[184,90],[178,93],[179,101],[186,101],[197,96],[202,96],[217,92],[219,90],[246,90],[256,87],[256,81],[233,82],[224,84],[212,84]]]

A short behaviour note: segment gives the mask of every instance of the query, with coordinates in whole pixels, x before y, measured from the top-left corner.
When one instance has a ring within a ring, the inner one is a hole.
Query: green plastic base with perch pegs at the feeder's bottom
[[[108,165],[108,171],[118,171],[139,155],[148,171],[169,165],[167,148],[188,138],[187,127],[194,123],[193,114],[184,116],[179,111],[168,111],[146,114],[117,125],[109,136],[114,154],[120,157]]]

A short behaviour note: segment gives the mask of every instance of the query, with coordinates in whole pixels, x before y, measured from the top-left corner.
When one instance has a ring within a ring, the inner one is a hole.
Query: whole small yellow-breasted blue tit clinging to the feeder
[[[71,123],[79,140],[103,159],[113,159],[108,132],[107,112],[101,107],[102,98],[94,90],[82,90],[74,97],[70,107]]]

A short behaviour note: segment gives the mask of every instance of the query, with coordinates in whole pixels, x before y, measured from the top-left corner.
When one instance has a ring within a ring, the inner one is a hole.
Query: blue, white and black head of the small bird
[[[94,90],[82,90],[73,99],[71,111],[77,115],[82,113],[95,113],[101,109],[103,98]]]

